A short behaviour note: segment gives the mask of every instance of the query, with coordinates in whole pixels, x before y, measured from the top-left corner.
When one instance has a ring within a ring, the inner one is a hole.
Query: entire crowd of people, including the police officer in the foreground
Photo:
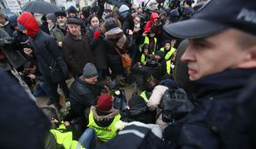
[[[26,99],[17,72],[34,97],[49,99],[41,110],[24,100],[41,123],[33,122],[40,135],[27,145],[256,147],[256,2],[193,3],[98,1],[44,14],[40,23],[32,12],[0,14],[0,68],[12,78],[5,81]],[[130,99],[126,85],[138,88]]]

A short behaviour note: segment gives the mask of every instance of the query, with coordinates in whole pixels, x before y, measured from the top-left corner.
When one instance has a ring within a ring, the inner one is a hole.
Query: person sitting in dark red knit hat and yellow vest
[[[86,109],[85,117],[88,128],[83,134],[84,137],[87,139],[96,138],[87,140],[86,142],[90,142],[90,145],[87,146],[93,147],[96,145],[96,141],[102,144],[116,137],[117,128],[115,125],[120,121],[121,115],[117,109],[113,108],[113,98],[110,94],[102,94],[96,106]]]

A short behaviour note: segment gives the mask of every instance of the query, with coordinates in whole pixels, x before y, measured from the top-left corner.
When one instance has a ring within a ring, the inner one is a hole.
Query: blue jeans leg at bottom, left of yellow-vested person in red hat
[[[85,132],[82,133],[78,142],[81,143],[82,146],[86,147],[86,149],[93,149],[96,147],[96,133],[91,128],[88,127]]]

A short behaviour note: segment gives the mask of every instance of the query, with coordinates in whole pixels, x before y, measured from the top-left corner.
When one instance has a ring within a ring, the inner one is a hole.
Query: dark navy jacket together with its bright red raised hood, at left
[[[29,42],[33,46],[32,54],[36,57],[40,72],[45,78],[50,78],[50,71],[60,69],[67,78],[69,72],[57,42],[47,33],[41,31],[36,19],[29,12],[18,17],[17,22],[27,29]],[[52,69],[51,69],[52,67]]]

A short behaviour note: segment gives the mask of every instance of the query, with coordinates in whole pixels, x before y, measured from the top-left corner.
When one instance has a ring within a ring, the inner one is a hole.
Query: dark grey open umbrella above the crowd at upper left
[[[34,1],[27,2],[23,7],[23,12],[32,12],[32,13],[40,13],[40,14],[48,14],[53,13],[60,10],[57,6],[53,5],[49,2],[44,1]]]

